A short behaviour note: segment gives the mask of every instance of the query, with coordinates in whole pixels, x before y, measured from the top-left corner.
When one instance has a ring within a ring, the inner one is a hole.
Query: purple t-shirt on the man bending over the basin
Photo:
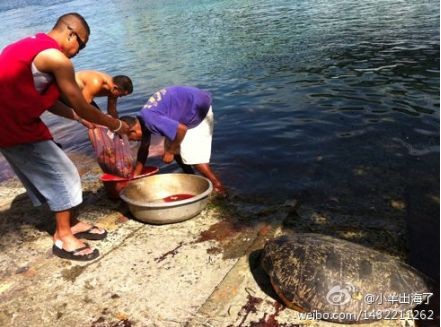
[[[187,128],[199,125],[210,106],[208,92],[191,86],[170,86],[153,94],[138,116],[152,134],[174,140],[179,123]]]

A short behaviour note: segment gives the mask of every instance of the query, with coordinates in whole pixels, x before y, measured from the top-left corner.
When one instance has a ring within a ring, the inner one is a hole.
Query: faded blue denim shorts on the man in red
[[[47,202],[52,211],[64,211],[83,201],[78,170],[54,141],[1,148],[34,206]]]

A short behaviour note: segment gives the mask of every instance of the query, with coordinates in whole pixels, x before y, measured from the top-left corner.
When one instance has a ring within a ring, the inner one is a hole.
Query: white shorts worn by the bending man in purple
[[[214,115],[210,106],[204,120],[196,127],[188,129],[181,142],[180,154],[185,164],[195,165],[210,162],[213,129]],[[168,146],[168,142],[165,146]]]

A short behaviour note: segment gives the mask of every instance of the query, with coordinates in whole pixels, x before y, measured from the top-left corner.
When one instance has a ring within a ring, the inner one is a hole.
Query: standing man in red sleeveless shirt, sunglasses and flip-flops
[[[90,29],[77,13],[58,18],[47,34],[39,33],[5,47],[0,54],[0,152],[20,178],[34,205],[47,202],[55,212],[53,253],[71,260],[93,260],[80,238],[103,239],[106,231],[78,221],[73,208],[82,202],[77,169],[55,144],[40,115],[84,118],[119,133],[128,125],[96,110],[86,102],[70,58],[82,50]],[[68,99],[72,108],[58,99]]]

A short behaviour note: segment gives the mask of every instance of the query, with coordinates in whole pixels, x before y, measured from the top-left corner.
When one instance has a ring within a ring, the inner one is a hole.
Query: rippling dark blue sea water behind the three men
[[[167,85],[212,92],[212,165],[233,192],[361,204],[424,180],[439,201],[439,1],[2,1],[0,47],[72,11],[92,31],[76,70],[134,82],[120,112]],[[94,160],[82,127],[45,120]]]

